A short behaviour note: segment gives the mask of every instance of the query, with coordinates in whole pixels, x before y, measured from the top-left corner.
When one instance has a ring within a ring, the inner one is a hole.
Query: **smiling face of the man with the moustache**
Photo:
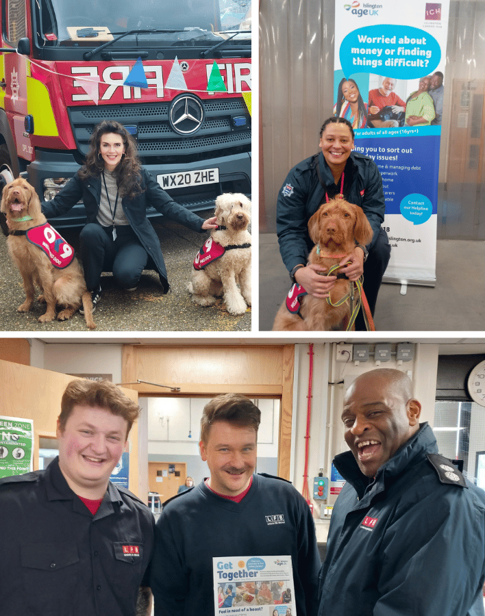
[[[210,470],[210,487],[225,496],[237,496],[249,485],[256,468],[254,428],[216,421],[207,442],[200,441],[201,458]]]

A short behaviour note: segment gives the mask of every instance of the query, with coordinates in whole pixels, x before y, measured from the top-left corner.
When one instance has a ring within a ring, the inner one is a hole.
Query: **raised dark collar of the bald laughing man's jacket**
[[[383,491],[395,478],[401,475],[410,465],[425,459],[427,453],[437,453],[438,445],[433,431],[427,422],[419,424],[419,431],[406,441],[385,464],[377,471],[373,480],[369,480],[358,467],[351,451],[338,454],[334,465],[343,478],[356,490],[359,498],[364,496],[366,489],[373,486],[372,496]]]

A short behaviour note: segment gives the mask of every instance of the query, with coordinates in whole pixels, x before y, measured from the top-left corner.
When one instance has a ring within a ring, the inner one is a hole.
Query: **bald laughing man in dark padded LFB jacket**
[[[485,492],[438,454],[411,381],[371,370],[342,414],[350,448],[329,528],[319,616],[483,613]]]

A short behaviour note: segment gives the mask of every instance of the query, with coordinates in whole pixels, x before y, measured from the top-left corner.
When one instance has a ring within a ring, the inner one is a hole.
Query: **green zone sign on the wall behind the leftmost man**
[[[0,477],[33,470],[33,441],[32,420],[0,415]]]

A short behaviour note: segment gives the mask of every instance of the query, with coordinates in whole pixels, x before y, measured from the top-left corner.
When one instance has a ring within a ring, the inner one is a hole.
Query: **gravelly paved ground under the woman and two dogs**
[[[209,218],[212,211],[199,215]],[[103,295],[94,313],[95,331],[251,331],[251,309],[243,315],[232,316],[222,300],[209,307],[190,300],[187,285],[192,261],[208,233],[195,233],[166,218],[152,218],[151,222],[160,238],[172,291],[162,295],[158,274],[152,271],[143,272],[135,292],[121,290],[114,285],[111,274],[103,274]],[[61,233],[77,249],[79,229],[63,229]],[[45,312],[45,306],[36,303],[29,313],[16,311],[25,294],[2,234],[0,264],[0,331],[88,331],[79,313],[69,321],[39,323],[37,319]]]

